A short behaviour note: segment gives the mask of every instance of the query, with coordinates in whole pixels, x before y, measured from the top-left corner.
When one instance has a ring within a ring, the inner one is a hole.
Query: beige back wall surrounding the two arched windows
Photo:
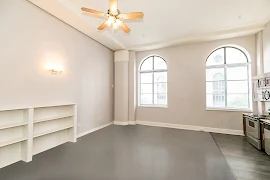
[[[136,119],[241,130],[242,112],[206,110],[206,58],[215,48],[228,44],[242,46],[250,53],[254,74],[256,72],[255,35],[137,52],[137,67],[146,56],[151,54],[160,55],[167,61],[168,107],[137,107]]]

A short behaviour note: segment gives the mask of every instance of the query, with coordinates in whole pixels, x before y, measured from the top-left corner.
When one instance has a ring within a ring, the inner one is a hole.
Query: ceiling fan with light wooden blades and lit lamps
[[[89,12],[95,15],[103,16],[107,18],[102,25],[98,27],[98,30],[103,30],[107,26],[112,27],[113,29],[117,29],[120,26],[126,33],[129,33],[131,30],[123,23],[125,19],[140,19],[143,18],[144,14],[142,12],[133,12],[133,13],[121,13],[118,10],[118,2],[117,0],[110,0],[110,9],[107,13],[103,13],[100,11],[92,10],[86,7],[81,8],[82,11]]]

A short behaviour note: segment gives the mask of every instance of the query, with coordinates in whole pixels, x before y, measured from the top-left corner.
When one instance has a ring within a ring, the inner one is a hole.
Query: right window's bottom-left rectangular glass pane
[[[225,98],[224,93],[206,94],[206,105],[211,108],[224,108]]]

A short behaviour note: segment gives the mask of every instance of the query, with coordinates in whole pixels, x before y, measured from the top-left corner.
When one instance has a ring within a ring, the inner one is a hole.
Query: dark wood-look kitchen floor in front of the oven
[[[243,136],[212,133],[238,180],[269,180],[270,156],[258,151]]]

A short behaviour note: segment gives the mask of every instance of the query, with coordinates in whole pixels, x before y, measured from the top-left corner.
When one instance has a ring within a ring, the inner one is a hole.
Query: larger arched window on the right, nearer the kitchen
[[[243,50],[225,46],[206,61],[207,108],[251,109],[250,62]]]

